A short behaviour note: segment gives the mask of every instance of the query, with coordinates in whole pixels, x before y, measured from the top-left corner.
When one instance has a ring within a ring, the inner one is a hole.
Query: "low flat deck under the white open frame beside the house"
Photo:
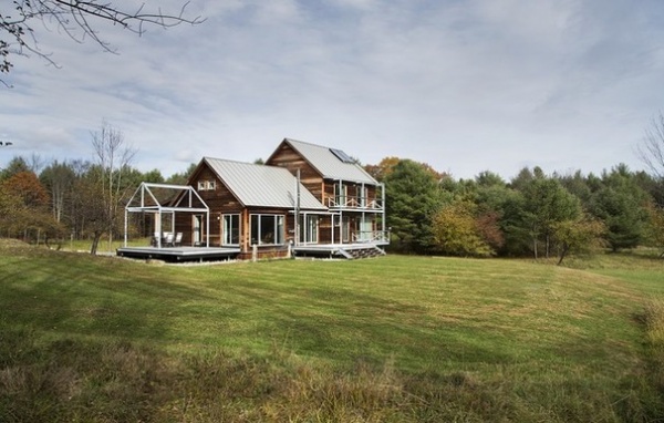
[[[220,247],[122,247],[117,256],[137,259],[157,259],[164,261],[216,261],[234,259],[239,248]]]

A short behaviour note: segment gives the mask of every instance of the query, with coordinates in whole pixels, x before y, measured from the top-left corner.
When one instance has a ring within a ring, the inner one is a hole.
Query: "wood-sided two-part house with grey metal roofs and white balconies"
[[[240,259],[354,258],[384,254],[390,243],[383,184],[340,149],[286,138],[264,165],[204,157],[180,188],[188,194],[164,209],[185,248],[216,248]],[[155,227],[163,226],[158,213]]]

